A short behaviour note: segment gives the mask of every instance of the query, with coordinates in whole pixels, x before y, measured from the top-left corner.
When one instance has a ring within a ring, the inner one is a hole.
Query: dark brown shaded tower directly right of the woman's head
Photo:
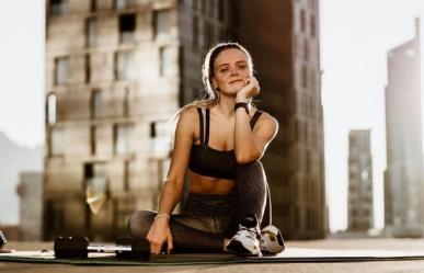
[[[263,159],[273,221],[290,239],[323,238],[328,218],[319,1],[242,0],[234,12],[236,39],[252,53],[262,89],[256,105],[279,123]]]

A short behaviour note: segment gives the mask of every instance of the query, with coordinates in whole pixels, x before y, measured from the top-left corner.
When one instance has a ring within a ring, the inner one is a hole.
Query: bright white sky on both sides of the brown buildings
[[[44,143],[44,2],[2,0],[0,9],[0,130],[27,147]],[[413,38],[416,16],[424,19],[423,0],[320,1],[325,180],[332,231],[347,225],[347,136],[351,129],[363,128],[371,129],[375,225],[382,227],[387,52]]]

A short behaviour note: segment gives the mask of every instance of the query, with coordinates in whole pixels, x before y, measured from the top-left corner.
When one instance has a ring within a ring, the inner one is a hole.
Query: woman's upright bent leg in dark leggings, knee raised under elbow
[[[271,195],[265,172],[260,161],[237,168],[236,190],[226,238],[239,229],[244,215],[254,214],[261,227],[271,224]]]

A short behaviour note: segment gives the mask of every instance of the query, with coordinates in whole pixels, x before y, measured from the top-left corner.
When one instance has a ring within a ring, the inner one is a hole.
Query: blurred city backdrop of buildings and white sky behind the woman
[[[172,117],[202,96],[205,54],[236,41],[253,56],[255,104],[279,123],[263,163],[284,236],[423,237],[424,4],[388,2],[28,1],[37,12],[21,7],[0,29],[22,35],[0,47],[0,228],[12,240],[125,234],[128,214],[157,207]],[[21,90],[30,79],[41,84]]]

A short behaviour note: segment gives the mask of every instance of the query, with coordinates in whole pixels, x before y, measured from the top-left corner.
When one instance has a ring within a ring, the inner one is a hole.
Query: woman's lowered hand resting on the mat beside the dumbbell
[[[167,217],[154,218],[146,239],[150,242],[150,253],[160,254],[164,242],[168,244],[168,254],[173,248],[172,234]]]

